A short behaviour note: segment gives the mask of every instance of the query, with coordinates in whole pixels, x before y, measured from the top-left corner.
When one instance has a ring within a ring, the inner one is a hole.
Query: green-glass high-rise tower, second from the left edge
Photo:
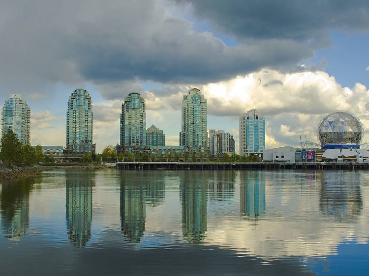
[[[67,155],[95,153],[92,143],[92,100],[85,89],[74,90],[69,97],[66,112]]]

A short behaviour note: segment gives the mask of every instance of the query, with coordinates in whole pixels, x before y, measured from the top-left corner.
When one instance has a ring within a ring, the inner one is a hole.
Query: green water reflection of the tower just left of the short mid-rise
[[[182,231],[189,244],[199,244],[207,229],[207,183],[210,172],[184,172],[181,177]]]

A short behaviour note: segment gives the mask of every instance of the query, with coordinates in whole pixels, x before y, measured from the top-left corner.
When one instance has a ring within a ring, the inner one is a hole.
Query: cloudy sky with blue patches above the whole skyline
[[[236,139],[238,116],[266,117],[266,147],[316,141],[347,110],[369,141],[367,0],[1,0],[0,103],[22,94],[31,144],[65,146],[70,93],[93,101],[97,152],[119,141],[124,97],[146,99],[147,127],[178,145],[181,102],[208,102],[208,129]]]

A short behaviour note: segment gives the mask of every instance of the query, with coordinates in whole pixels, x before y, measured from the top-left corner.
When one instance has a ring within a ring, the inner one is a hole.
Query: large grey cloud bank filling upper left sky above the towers
[[[90,82],[105,98],[118,99],[122,84],[142,90],[142,81],[214,82],[262,67],[290,70],[313,55],[306,41],[227,46],[170,15],[167,5],[162,0],[3,1],[0,93]]]

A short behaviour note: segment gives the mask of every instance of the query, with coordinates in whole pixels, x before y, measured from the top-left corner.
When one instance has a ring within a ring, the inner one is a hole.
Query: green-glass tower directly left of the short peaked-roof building
[[[121,151],[137,152],[146,146],[146,103],[139,93],[124,99],[121,114]]]

